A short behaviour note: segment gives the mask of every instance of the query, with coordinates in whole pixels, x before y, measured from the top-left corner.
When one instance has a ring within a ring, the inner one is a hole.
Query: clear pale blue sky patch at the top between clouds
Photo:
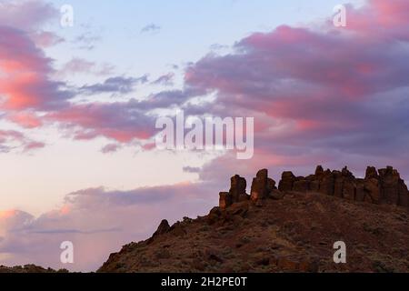
[[[355,1],[359,3],[360,1]],[[233,45],[252,32],[277,25],[305,25],[332,15],[338,0],[210,0],[210,1],[54,1],[72,5],[75,27],[61,29],[69,40],[86,34],[97,37],[95,49],[78,50],[68,43],[53,48],[59,62],[73,55],[108,62],[118,74],[161,75],[170,65],[195,62],[210,46]],[[141,33],[146,25],[161,28]]]

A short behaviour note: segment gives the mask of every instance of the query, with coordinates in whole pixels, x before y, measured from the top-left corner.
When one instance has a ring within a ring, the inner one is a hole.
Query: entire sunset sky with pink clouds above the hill
[[[0,265],[95,270],[260,168],[407,179],[409,4],[350,1],[336,27],[339,4],[0,1]],[[157,149],[181,110],[254,117],[253,158]]]

